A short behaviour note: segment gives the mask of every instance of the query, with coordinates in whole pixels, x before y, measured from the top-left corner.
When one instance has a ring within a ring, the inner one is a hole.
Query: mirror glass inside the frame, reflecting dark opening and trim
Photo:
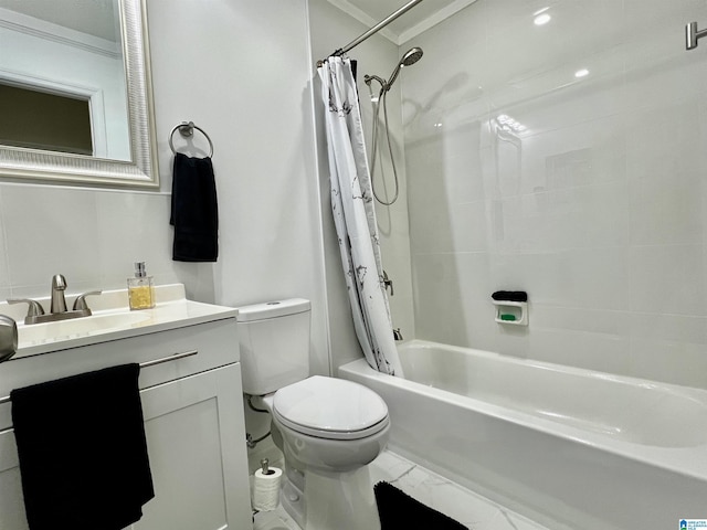
[[[130,160],[119,0],[0,0],[0,145]]]

